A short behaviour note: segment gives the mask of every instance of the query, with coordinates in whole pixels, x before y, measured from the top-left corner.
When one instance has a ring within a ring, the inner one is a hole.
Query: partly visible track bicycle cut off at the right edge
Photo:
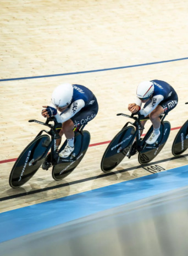
[[[186,102],[185,104],[188,104]],[[181,126],[178,134],[176,134],[173,145],[172,153],[174,156],[179,156],[183,154],[188,148],[188,120]]]

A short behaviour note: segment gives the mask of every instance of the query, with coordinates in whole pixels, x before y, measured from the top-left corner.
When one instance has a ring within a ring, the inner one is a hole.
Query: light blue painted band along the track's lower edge
[[[0,214],[0,242],[188,185],[188,166]]]

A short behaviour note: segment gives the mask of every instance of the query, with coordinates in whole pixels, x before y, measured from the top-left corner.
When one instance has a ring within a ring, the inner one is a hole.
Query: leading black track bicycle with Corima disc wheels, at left
[[[56,139],[60,138],[58,131],[61,129],[62,124],[58,124],[55,118],[47,118],[46,122],[37,120],[29,120],[29,122],[45,125],[50,130],[41,130],[16,159],[9,175],[9,185],[12,188],[19,188],[28,182],[46,159],[51,163],[54,180],[61,180],[67,177],[81,162],[89,147],[90,132],[83,130],[85,124],[80,129],[74,130],[74,151],[69,157],[60,158],[56,150]],[[49,124],[49,122],[53,122],[53,124]],[[43,132],[46,134],[43,134]],[[64,141],[59,151],[62,151],[66,145],[67,140]],[[51,152],[48,154],[49,150]]]

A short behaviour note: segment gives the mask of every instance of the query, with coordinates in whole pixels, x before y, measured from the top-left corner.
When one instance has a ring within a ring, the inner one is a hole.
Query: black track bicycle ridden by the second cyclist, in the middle
[[[134,156],[135,153],[139,153],[138,160],[140,164],[146,164],[152,161],[153,158],[155,158],[162,150],[170,134],[170,123],[168,121],[164,121],[167,114],[160,116],[161,134],[159,135],[157,141],[152,145],[148,145],[146,140],[148,137],[150,137],[153,131],[153,125],[147,131],[145,137],[143,137],[143,140],[140,135],[140,131],[143,130],[141,121],[149,120],[150,118],[141,118],[140,114],[131,114],[130,116],[120,113],[117,115],[131,118],[134,120],[134,122],[126,122],[118,134],[115,135],[113,140],[110,141],[101,160],[101,169],[103,172],[109,172],[109,170],[117,167],[125,156],[130,158],[131,156]],[[137,117],[135,115],[137,115]],[[136,141],[134,142],[135,138]]]

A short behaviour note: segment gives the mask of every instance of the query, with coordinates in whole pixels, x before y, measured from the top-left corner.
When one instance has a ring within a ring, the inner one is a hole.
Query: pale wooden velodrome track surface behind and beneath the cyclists
[[[124,159],[113,175],[100,169],[107,142],[127,121],[116,114],[128,113],[143,80],[167,81],[179,95],[166,118],[172,126],[169,140],[150,166],[167,170],[187,164],[186,154],[171,153],[188,116],[187,1],[20,0],[1,1],[0,7],[0,212],[154,173],[140,166],[137,156]],[[62,82],[83,84],[98,99],[99,112],[86,126],[89,150],[64,180],[56,182],[51,169],[40,168],[22,188],[12,189],[14,161],[42,128],[27,120],[43,120],[42,105]]]

